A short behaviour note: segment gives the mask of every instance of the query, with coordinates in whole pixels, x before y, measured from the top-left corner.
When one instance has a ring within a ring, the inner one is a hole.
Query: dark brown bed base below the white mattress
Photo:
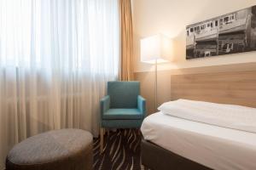
[[[170,150],[142,139],[141,143],[143,166],[151,170],[210,170],[195,161],[178,156]],[[196,153],[195,153],[196,154]]]

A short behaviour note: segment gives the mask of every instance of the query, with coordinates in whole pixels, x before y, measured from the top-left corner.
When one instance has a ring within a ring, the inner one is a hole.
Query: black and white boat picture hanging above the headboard
[[[256,6],[186,27],[186,59],[256,50]]]

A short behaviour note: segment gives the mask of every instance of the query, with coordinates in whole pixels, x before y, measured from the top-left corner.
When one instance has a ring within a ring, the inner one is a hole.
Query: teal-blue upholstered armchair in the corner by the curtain
[[[108,82],[108,95],[101,99],[101,151],[104,128],[141,127],[145,105],[140,82]]]

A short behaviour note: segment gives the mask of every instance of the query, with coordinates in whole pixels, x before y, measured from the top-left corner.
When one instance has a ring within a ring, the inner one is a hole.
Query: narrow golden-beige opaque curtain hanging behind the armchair
[[[131,0],[119,0],[120,20],[120,79],[133,80],[133,27],[131,16]]]

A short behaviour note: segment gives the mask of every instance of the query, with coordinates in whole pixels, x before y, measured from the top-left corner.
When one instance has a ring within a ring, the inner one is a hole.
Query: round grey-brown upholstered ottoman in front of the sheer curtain
[[[92,159],[89,132],[61,129],[16,144],[6,158],[6,170],[87,170]]]

